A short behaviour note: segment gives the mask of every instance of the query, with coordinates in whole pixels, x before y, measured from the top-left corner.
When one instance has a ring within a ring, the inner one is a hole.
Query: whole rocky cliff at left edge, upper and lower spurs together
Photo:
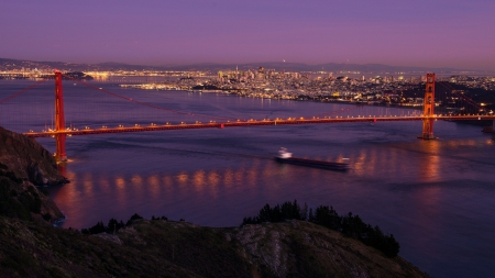
[[[41,222],[64,219],[45,189],[65,184],[53,156],[36,141],[0,127],[0,215]]]

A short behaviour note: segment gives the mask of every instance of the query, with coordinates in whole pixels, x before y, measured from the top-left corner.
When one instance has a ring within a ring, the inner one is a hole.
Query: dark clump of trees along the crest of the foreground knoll
[[[400,245],[394,238],[394,235],[387,235],[382,232],[380,226],[372,226],[364,223],[359,215],[349,212],[346,215],[339,215],[332,207],[320,205],[312,212],[305,204],[301,210],[297,200],[294,202],[284,202],[271,208],[265,204],[260,210],[257,216],[244,218],[242,225],[260,224],[263,222],[283,222],[286,220],[307,220],[318,225],[339,231],[345,236],[353,237],[362,243],[373,246],[383,252],[388,257],[396,257]]]

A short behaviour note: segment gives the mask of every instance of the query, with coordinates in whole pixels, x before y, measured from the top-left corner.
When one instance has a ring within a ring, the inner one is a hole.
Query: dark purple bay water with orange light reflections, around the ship
[[[0,81],[0,99],[30,84]],[[164,108],[238,119],[311,116],[350,107],[94,84]],[[69,103],[106,111],[109,125],[123,121],[112,120],[111,114],[132,109],[85,98],[92,92],[70,86],[65,88],[67,121],[73,119],[75,125],[81,124],[81,115],[76,109],[70,112]],[[38,94],[16,104],[40,107],[30,111],[50,114],[52,87],[41,87]],[[0,109],[0,120],[9,119],[7,107]],[[349,113],[413,111],[366,107]],[[96,113],[85,116],[89,124],[91,116],[92,123],[103,122]],[[40,130],[50,122],[36,119],[10,127]],[[133,120],[124,123],[133,124]],[[63,169],[72,182],[52,187],[50,192],[67,215],[63,226],[78,229],[110,218],[125,221],[133,213],[232,226],[265,203],[297,199],[312,208],[328,204],[394,234],[400,243],[399,255],[435,277],[493,277],[495,144],[480,126],[437,122],[440,138],[431,142],[416,138],[420,130],[420,122],[397,122],[74,136],[67,140],[70,163]],[[55,151],[54,140],[38,142]],[[279,165],[272,157],[280,146],[299,157],[349,158],[352,168],[337,173]]]

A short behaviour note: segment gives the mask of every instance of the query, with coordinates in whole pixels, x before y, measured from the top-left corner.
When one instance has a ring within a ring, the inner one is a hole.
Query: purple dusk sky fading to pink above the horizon
[[[495,0],[2,0],[0,57],[495,70]]]

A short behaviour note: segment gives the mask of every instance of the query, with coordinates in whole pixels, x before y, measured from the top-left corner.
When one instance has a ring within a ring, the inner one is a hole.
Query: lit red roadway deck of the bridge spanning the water
[[[427,119],[457,121],[457,120],[495,120],[495,115],[435,115],[435,116],[358,116],[358,118],[324,118],[324,119],[275,119],[275,120],[238,120],[228,121],[223,123],[180,123],[180,124],[152,124],[146,126],[119,126],[119,127],[101,127],[101,129],[67,129],[65,131],[47,131],[47,132],[26,132],[23,133],[28,137],[54,137],[58,134],[66,134],[68,136],[75,135],[90,135],[105,133],[129,133],[129,132],[145,132],[145,131],[169,131],[169,130],[197,130],[197,129],[224,129],[234,126],[257,126],[257,125],[288,125],[288,124],[318,124],[318,123],[362,123],[362,122],[399,122],[399,121],[422,121]]]

